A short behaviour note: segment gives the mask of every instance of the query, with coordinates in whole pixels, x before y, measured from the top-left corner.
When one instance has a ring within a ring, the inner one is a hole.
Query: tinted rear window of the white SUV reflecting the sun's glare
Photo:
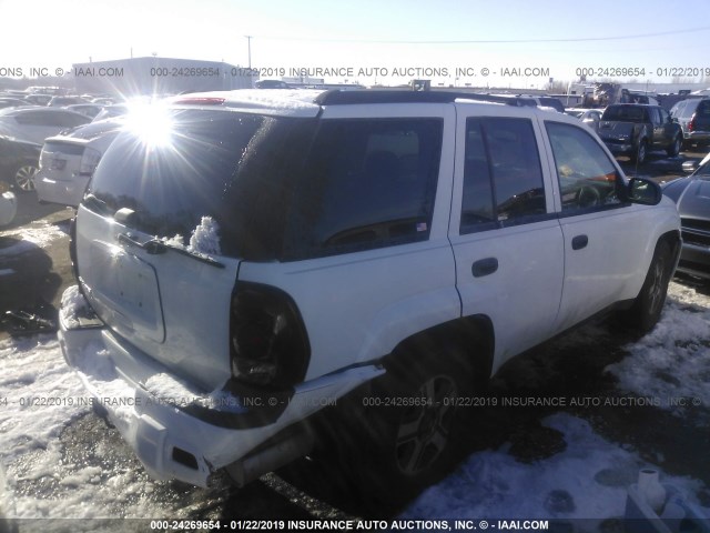
[[[202,110],[173,111],[170,119],[168,142],[119,134],[89,184],[95,200],[85,205],[106,215],[131,209],[134,229],[184,242],[202,217],[212,217],[222,253],[278,257],[315,122]]]

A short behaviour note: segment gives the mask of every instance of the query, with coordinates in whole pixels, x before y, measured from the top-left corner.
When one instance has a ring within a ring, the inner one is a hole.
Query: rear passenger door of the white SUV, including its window
[[[463,314],[491,320],[497,368],[550,335],[565,258],[535,115],[495,111],[458,108],[449,239]]]

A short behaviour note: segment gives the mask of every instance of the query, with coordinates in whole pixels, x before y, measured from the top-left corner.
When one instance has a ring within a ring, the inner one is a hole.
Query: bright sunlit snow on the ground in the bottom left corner
[[[174,515],[143,472],[63,461],[60,433],[91,406],[53,336],[2,341],[0,361],[0,516]]]

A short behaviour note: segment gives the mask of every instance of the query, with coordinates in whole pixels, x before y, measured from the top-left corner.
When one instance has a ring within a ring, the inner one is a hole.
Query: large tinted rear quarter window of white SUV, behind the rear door
[[[428,239],[442,132],[442,119],[324,120],[297,188],[286,255]]]

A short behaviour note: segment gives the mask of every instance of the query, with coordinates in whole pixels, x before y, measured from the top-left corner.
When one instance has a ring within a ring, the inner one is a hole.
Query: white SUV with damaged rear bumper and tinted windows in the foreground
[[[524,100],[193,94],[103,155],[60,339],[155,476],[244,484],[326,442],[400,497],[452,465],[459,399],[506,360],[613,308],[650,330],[679,230]]]

